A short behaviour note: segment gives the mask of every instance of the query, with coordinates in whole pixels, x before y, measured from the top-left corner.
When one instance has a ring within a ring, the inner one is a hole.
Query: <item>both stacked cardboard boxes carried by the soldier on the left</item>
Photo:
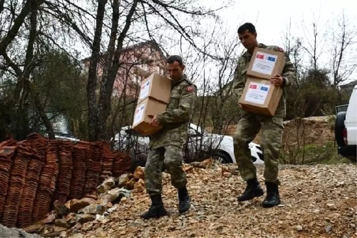
[[[170,79],[154,72],[143,80],[141,82],[132,128],[144,136],[149,136],[159,131],[162,126],[150,126],[152,118],[148,115],[156,115],[164,112],[170,101],[170,95]]]

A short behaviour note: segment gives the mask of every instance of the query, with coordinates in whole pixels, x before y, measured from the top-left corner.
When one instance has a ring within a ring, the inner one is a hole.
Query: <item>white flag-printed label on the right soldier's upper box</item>
[[[271,75],[276,63],[277,55],[257,52],[253,62],[252,71],[260,74]]]

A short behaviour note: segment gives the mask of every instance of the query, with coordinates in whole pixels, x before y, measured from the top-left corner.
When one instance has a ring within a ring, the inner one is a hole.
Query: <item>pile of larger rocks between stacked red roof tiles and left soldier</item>
[[[137,167],[134,174],[122,174],[118,178],[108,177],[97,187],[97,199],[84,197],[72,199],[65,204],[55,201],[54,210],[36,224],[25,227],[29,233],[43,237],[82,236],[82,232],[100,227],[109,221],[109,216],[121,203],[132,197],[132,192],[145,190],[144,168]]]

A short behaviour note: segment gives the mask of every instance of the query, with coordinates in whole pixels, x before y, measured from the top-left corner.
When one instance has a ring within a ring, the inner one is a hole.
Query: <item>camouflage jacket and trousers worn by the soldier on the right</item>
[[[259,48],[273,51],[282,51],[278,46],[266,46],[259,44]],[[246,51],[238,60],[234,73],[233,90],[241,97],[247,80],[247,68],[252,55]],[[257,133],[262,130],[262,148],[264,153],[264,178],[267,182],[279,184],[278,181],[278,156],[282,143],[283,118],[286,116],[286,90],[285,86],[295,78],[295,67],[285,53],[285,67],[282,73],[284,79],[283,95],[280,99],[276,113],[273,117],[259,115],[243,111],[242,117],[237,125],[233,136],[234,155],[242,178],[245,181],[256,178],[256,167],[254,166],[248,144],[254,140]]]

